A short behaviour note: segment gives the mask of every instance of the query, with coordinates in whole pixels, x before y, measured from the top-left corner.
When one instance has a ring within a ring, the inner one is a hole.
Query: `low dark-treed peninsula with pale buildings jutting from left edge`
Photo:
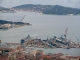
[[[6,20],[0,20],[0,29],[9,29],[9,28],[18,28],[25,25],[31,25],[30,23],[24,23],[24,22],[12,22],[12,21],[6,21]]]

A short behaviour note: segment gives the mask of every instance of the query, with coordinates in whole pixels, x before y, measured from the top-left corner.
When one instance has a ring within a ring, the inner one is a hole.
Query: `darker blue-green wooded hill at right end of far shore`
[[[58,14],[58,15],[80,15],[80,9],[76,8],[69,8],[69,7],[63,7],[63,6],[54,6],[51,9],[47,9],[43,11],[44,14]]]

